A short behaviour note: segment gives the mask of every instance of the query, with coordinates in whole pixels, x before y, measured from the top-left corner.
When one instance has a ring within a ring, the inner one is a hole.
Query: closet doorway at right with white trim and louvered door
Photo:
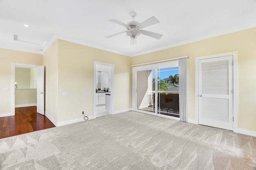
[[[237,52],[196,57],[198,124],[238,131]]]

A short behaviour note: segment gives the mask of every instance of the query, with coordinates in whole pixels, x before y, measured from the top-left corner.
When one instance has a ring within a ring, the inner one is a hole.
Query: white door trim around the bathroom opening
[[[109,64],[109,63],[101,63],[101,62],[97,62],[94,61],[94,70],[93,70],[93,118],[96,118],[96,104],[95,104],[95,100],[96,100],[96,65],[101,65],[101,66],[110,66],[111,67],[111,87],[110,87],[110,91],[111,91],[111,111],[110,114],[114,114],[114,68],[115,65],[114,64]]]

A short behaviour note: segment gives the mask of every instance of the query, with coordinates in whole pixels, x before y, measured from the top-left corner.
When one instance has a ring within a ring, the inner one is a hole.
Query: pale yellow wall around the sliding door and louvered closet
[[[256,131],[256,28],[132,57],[132,65],[189,56],[188,111],[195,118],[195,57],[238,51],[238,127]]]

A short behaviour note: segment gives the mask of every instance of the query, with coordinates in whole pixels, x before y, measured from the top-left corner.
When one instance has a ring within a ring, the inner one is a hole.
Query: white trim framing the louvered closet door
[[[229,53],[221,53],[216,55],[208,55],[208,56],[202,56],[202,57],[196,57],[195,58],[195,124],[198,124],[198,60],[202,59],[210,59],[215,57],[224,57],[224,56],[233,56],[233,116],[234,116],[234,122],[233,122],[233,131],[238,133],[238,52],[233,51]]]

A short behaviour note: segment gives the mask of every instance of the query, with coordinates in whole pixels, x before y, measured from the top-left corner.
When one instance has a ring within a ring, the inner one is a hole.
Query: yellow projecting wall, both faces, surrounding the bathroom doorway
[[[83,117],[82,111],[87,116],[93,115],[94,61],[115,65],[114,110],[132,107],[130,57],[58,39],[44,54],[46,112],[50,112],[56,121]],[[62,92],[66,92],[67,96],[62,96]],[[58,107],[53,108],[55,106]],[[53,109],[54,113],[50,109]],[[54,115],[55,113],[58,113],[58,116]]]

